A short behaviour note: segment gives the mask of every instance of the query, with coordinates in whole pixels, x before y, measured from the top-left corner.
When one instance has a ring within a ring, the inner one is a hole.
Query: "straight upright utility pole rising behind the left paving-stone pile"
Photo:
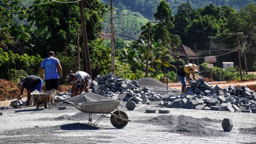
[[[115,63],[114,63],[114,10],[113,10],[113,0],[110,0],[110,25],[111,25],[111,73],[116,76],[115,74]]]

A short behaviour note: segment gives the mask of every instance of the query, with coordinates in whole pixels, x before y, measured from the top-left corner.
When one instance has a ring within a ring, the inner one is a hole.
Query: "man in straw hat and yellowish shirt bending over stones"
[[[178,79],[180,79],[182,87],[181,87],[181,92],[185,92],[185,88],[186,88],[186,77],[189,80],[196,80],[194,72],[195,71],[199,71],[199,68],[197,65],[195,64],[188,64],[188,65],[183,65],[181,66],[180,69],[177,70],[177,77]],[[193,79],[190,78],[190,73],[192,73]]]

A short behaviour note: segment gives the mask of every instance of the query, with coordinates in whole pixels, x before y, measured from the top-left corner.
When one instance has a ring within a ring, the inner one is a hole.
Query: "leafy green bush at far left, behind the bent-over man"
[[[16,70],[23,70],[27,75],[39,75],[42,60],[40,55],[19,55],[10,50],[3,52],[0,48],[0,78],[12,80]]]

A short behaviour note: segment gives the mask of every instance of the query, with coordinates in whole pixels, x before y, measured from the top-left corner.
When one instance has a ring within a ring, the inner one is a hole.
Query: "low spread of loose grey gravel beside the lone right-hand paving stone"
[[[219,132],[212,126],[216,123],[221,123],[221,120],[209,119],[209,118],[193,118],[189,116],[173,116],[173,115],[161,115],[154,118],[146,119],[144,121],[138,121],[139,123],[149,123],[152,125],[163,126],[158,131],[181,133],[190,136],[200,137],[218,137],[223,136],[222,132]]]

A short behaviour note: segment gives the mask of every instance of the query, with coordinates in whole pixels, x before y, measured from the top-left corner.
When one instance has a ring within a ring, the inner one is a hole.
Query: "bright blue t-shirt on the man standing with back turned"
[[[45,58],[42,61],[41,68],[44,68],[44,75],[45,80],[49,79],[58,79],[58,71],[57,71],[57,64],[59,63],[59,60],[54,57]]]

